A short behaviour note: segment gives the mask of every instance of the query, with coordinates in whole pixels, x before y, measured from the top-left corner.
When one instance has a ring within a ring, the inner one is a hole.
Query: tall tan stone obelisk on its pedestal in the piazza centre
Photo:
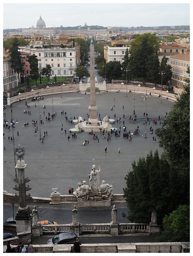
[[[97,106],[96,106],[96,96],[95,96],[95,68],[94,68],[94,44],[93,41],[91,40],[91,63],[90,63],[90,90],[91,90],[91,95],[90,95],[90,106],[88,107],[89,109],[89,122],[91,122],[93,125],[98,123],[97,119]]]

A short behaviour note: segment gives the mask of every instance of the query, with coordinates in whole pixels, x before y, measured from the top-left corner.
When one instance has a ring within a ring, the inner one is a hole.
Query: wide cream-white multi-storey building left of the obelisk
[[[52,69],[52,76],[60,75],[60,71],[61,76],[73,76],[74,69],[77,65],[80,65],[79,46],[72,48],[60,48],[54,46],[48,49],[31,49],[30,52],[31,55],[36,55],[39,59],[39,71],[49,64]]]

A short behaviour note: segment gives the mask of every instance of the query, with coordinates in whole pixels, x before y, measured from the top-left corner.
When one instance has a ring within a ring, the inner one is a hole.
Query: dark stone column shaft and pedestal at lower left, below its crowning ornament
[[[29,190],[30,188],[29,186],[26,187],[26,166],[27,164],[25,164],[24,160],[17,160],[17,165],[15,168],[18,169],[19,187],[16,186],[15,188],[13,188],[15,190],[19,190],[19,208],[15,216],[17,233],[28,231],[28,228],[30,227],[31,209],[26,203],[26,190]]]

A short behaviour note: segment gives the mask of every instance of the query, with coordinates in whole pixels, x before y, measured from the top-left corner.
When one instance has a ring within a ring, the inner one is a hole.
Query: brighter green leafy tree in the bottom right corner
[[[180,205],[163,218],[164,230],[156,242],[190,242],[190,205]]]

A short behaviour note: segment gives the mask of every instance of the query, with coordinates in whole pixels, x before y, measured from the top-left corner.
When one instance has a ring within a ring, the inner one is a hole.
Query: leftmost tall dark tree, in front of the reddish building
[[[19,44],[19,39],[14,37],[12,46],[10,47],[9,52],[10,52],[11,63],[12,63],[11,68],[13,68],[14,71],[18,74],[18,80],[20,84],[19,74],[20,72],[23,71],[24,63],[21,62],[21,52],[19,51],[18,44]]]

